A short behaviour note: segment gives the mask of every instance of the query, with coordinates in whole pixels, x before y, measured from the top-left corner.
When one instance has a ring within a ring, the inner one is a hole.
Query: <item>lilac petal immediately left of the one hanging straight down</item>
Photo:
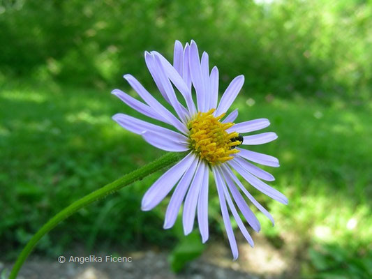
[[[186,195],[186,200],[184,204],[184,214],[182,216],[182,221],[184,224],[184,233],[185,235],[190,234],[193,230],[196,205],[198,202],[198,196],[200,193],[200,187],[204,180],[204,169],[206,165],[204,161],[200,161],[198,168],[196,170],[193,182],[191,183],[188,193]]]

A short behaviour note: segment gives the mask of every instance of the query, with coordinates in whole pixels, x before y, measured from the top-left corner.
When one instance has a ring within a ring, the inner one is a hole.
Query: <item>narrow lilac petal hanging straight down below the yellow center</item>
[[[200,188],[198,199],[198,223],[200,234],[202,235],[202,243],[208,240],[208,188],[209,188],[209,169],[204,169],[204,179]]]

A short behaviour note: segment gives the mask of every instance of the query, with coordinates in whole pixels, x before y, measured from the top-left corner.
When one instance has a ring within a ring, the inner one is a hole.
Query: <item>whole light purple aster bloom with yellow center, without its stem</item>
[[[164,228],[169,229],[174,225],[181,204],[184,202],[182,215],[184,233],[189,234],[193,230],[195,216],[197,216],[204,243],[209,237],[208,192],[209,170],[211,170],[216,181],[232,255],[237,259],[237,242],[230,223],[230,213],[251,246],[253,240],[237,209],[255,231],[260,230],[260,223],[246,203],[246,199],[264,213],[273,225],[274,219],[248,192],[232,170],[234,169],[262,193],[287,204],[288,199],[282,193],[264,182],[274,181],[274,176],[253,165],[258,163],[278,167],[278,160],[272,156],[241,148],[241,146],[265,144],[276,140],[277,136],[271,132],[246,135],[269,126],[267,119],[235,124],[233,121],[238,116],[237,110],[225,116],[243,86],[244,76],[235,77],[218,102],[218,69],[215,66],[209,73],[209,56],[203,52],[200,60],[198,47],[193,40],[190,45],[186,43],[185,47],[176,41],[173,65],[155,51],[145,52],[144,58],[158,90],[172,106],[175,114],[158,102],[132,75],[124,75],[124,78],[143,102],[119,89],[115,89],[112,93],[137,112],[168,124],[173,130],[126,114],[115,114],[112,118],[126,130],[141,135],[146,142],[158,149],[172,152],[188,151],[188,155],[165,172],[147,190],[142,198],[142,210],[153,209],[175,187],[165,213]],[[176,95],[174,87],[180,94]],[[196,104],[193,100],[192,88],[195,89]]]

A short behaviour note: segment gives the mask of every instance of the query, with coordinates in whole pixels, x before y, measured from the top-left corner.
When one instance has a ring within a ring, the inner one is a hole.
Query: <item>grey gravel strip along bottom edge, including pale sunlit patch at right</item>
[[[239,241],[240,242],[240,241]],[[115,252],[114,256],[131,257],[131,262],[106,262],[110,253],[97,252],[103,262],[69,262],[70,256],[89,257],[82,250],[64,255],[63,264],[58,259],[31,256],[22,267],[19,279],[279,279],[297,278],[298,267],[288,250],[275,249],[265,239],[255,238],[252,249],[244,241],[239,243],[239,259],[232,261],[228,247],[221,243],[210,243],[202,257],[189,263],[184,271],[174,274],[168,264],[168,252],[153,250],[137,252]],[[92,253],[90,255],[93,255]],[[98,259],[98,258],[97,258]],[[10,269],[11,263],[0,262],[0,270]],[[2,278],[1,278],[2,279]]]

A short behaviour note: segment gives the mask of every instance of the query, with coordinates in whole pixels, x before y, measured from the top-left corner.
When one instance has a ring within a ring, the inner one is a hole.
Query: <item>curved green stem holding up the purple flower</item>
[[[24,247],[24,249],[18,256],[17,262],[15,262],[13,266],[9,279],[14,279],[17,277],[18,271],[20,271],[22,264],[27,259],[31,251],[34,249],[36,243],[38,243],[38,241],[45,234],[50,232],[50,230],[52,230],[55,226],[61,223],[61,221],[68,218],[68,216],[72,215],[79,209],[82,209],[84,206],[91,204],[92,202],[95,202],[98,199],[102,199],[106,195],[116,192],[117,190],[123,188],[124,186],[128,186],[129,184],[137,180],[143,179],[145,176],[148,176],[149,174],[152,174],[160,169],[163,169],[163,167],[167,167],[169,165],[176,163],[184,156],[185,153],[167,153],[163,157],[154,160],[154,162],[151,162],[148,165],[144,165],[144,167],[140,167],[140,169],[136,169],[135,171],[122,176],[121,178],[107,184],[106,186],[103,186],[102,188],[95,190],[94,192],[86,195],[85,197],[78,199],[76,202],[73,202],[65,209],[57,213],[57,215],[55,215],[47,223],[45,223],[45,225],[43,225],[43,227],[41,227],[41,229],[39,229],[38,232],[34,234],[34,236],[32,236],[29,243],[27,243],[27,245]]]

